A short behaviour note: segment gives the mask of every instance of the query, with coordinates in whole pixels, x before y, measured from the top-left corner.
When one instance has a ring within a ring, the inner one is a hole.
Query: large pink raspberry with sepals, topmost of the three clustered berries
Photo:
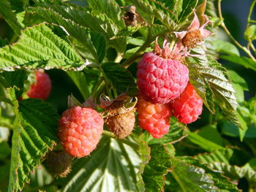
[[[175,57],[168,46],[165,45],[162,50],[155,48],[154,53],[145,53],[138,63],[137,85],[140,95],[152,104],[167,104],[176,99],[189,80],[187,66],[172,59]]]

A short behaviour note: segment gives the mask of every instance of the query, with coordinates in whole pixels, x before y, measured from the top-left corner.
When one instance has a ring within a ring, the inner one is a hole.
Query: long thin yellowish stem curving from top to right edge
[[[252,53],[250,52],[250,50],[247,50],[246,47],[243,47],[238,41],[236,41],[236,39],[232,36],[232,34],[230,34],[230,31],[228,31],[227,27],[225,26],[224,23],[224,18],[222,17],[222,7],[221,7],[221,1],[222,0],[218,0],[218,12],[219,12],[219,18],[220,20],[222,20],[222,23],[220,24],[220,26],[222,26],[222,28],[224,29],[224,31],[226,32],[226,34],[230,37],[230,39],[233,40],[233,42],[241,48],[241,50],[244,50],[244,52],[249,55],[250,58],[252,58],[253,61],[256,61],[255,57],[252,55]]]

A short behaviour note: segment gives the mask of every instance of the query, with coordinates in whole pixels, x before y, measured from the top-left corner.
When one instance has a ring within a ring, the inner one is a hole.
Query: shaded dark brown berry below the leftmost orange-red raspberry
[[[66,177],[71,171],[72,157],[64,151],[51,151],[46,163],[54,177]]]

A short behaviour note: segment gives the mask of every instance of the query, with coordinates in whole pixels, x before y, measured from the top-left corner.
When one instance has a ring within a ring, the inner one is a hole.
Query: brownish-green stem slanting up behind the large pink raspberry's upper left
[[[146,48],[149,45],[151,45],[151,42],[153,42],[154,39],[166,33],[167,33],[167,30],[162,31],[159,34],[156,34],[154,36],[151,36],[151,33],[148,33],[146,42],[144,42],[143,45],[141,45],[141,47],[135,53],[133,53],[131,57],[127,58],[127,60],[124,61],[124,63],[122,63],[121,66],[123,66],[124,68],[128,68],[134,61],[136,61],[138,58],[140,58],[143,55]]]

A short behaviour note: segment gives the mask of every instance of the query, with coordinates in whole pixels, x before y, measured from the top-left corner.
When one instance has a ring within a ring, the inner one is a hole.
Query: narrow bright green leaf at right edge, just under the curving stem
[[[240,57],[236,55],[220,55],[220,58],[244,66],[247,69],[252,69],[256,72],[256,62],[252,61],[251,58]]]

